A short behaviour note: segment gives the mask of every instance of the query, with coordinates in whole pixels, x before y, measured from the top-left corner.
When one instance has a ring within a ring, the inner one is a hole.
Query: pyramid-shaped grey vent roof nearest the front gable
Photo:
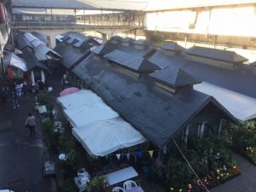
[[[149,76],[164,84],[170,84],[174,87],[201,83],[199,79],[193,77],[189,73],[184,72],[181,68],[171,66],[162,68],[157,72],[150,73]]]

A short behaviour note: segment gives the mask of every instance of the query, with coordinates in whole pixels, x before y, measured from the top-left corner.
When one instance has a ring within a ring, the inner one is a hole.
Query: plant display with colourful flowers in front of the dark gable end
[[[170,191],[204,191],[203,184],[211,188],[240,173],[221,139],[191,138],[188,146],[182,149],[183,154],[200,180],[195,177],[177,148],[172,148],[164,167],[166,185]]]

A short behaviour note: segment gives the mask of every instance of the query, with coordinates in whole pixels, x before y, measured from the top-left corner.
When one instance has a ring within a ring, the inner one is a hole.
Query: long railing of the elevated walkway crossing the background
[[[110,22],[110,21],[95,21],[88,22],[84,20],[78,20],[73,22],[67,21],[12,21],[12,27],[15,28],[84,28],[84,27],[95,27],[95,28],[113,28],[113,27],[125,27],[140,28],[138,23],[130,22]]]

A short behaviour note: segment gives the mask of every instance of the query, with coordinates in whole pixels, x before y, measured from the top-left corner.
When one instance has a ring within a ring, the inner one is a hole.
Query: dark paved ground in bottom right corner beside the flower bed
[[[211,192],[255,192],[256,191],[256,166],[242,158],[238,154],[233,154],[238,166],[241,169],[241,175],[230,181],[210,189]]]

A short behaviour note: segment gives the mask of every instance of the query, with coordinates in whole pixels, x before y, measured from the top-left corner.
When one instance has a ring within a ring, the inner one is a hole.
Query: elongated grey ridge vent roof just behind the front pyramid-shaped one
[[[137,72],[154,72],[155,70],[160,69],[160,67],[146,59],[143,59],[143,57],[131,55],[117,49],[107,55],[104,55],[104,57],[108,58],[110,61],[114,61],[117,65],[130,68]]]

